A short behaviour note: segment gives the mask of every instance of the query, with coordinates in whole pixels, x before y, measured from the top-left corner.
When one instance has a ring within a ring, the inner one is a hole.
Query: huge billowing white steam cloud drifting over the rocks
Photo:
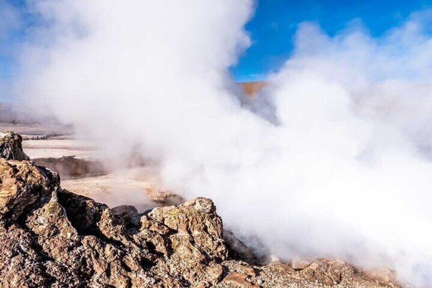
[[[41,113],[108,154],[140,147],[166,187],[212,198],[226,225],[283,259],[432,283],[430,11],[379,39],[358,23],[334,37],[301,24],[260,95],[267,121],[227,71],[249,44],[252,1],[28,4],[40,22],[17,93]]]

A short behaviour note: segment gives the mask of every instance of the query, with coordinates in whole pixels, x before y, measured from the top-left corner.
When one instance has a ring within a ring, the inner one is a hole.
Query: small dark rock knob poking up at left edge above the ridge
[[[22,151],[22,137],[15,132],[0,133],[0,158],[6,160],[30,160]]]

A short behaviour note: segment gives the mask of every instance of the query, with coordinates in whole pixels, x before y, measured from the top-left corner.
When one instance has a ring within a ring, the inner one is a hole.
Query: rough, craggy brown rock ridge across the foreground
[[[399,287],[338,260],[248,264],[230,251],[210,199],[110,209],[61,189],[49,169],[6,159],[0,184],[1,288]]]

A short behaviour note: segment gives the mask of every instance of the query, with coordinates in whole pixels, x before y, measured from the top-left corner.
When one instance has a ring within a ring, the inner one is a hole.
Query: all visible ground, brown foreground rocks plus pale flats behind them
[[[255,253],[210,199],[164,190],[152,163],[112,170],[72,127],[0,127],[2,288],[402,287],[385,267]]]

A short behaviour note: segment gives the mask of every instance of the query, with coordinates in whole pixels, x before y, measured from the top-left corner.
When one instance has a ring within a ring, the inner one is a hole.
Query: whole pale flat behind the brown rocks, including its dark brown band
[[[59,172],[62,187],[109,206],[130,203],[140,212],[165,204],[179,204],[179,196],[160,187],[151,165],[113,169],[91,141],[77,140],[70,126],[0,122],[0,130],[14,131],[37,165]]]

